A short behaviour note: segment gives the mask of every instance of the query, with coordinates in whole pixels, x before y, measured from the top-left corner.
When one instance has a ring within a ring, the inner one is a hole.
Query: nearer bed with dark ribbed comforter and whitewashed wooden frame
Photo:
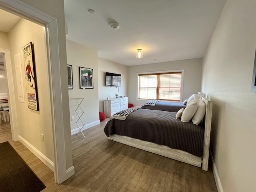
[[[185,162],[208,170],[212,101],[206,104],[204,123],[181,122],[176,112],[139,108],[125,120],[108,120],[104,128],[109,140]],[[168,119],[168,120],[167,120]],[[171,127],[171,128],[170,128]],[[148,133],[148,130],[153,129]]]

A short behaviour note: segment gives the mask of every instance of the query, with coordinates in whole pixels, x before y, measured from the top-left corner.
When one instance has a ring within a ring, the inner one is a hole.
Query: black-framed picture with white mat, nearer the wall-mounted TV
[[[93,89],[93,70],[79,67],[80,89]]]

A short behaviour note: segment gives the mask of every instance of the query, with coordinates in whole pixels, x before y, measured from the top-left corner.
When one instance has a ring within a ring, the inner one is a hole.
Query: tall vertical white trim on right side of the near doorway
[[[48,33],[47,33],[48,32]],[[46,41],[48,46],[48,64],[49,64],[49,77],[50,77],[50,98],[52,108],[52,128],[54,140],[54,158],[55,158],[55,174],[56,182],[61,184],[67,180],[66,176],[66,151],[64,139],[64,124],[63,124],[63,109],[62,109],[62,95],[60,84],[60,60],[59,60],[59,47],[58,47],[58,33],[57,33],[57,20],[48,24],[46,30]],[[58,174],[57,174],[58,173]]]

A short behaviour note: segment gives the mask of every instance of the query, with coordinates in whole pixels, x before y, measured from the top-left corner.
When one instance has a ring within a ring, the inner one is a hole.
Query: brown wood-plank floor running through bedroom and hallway
[[[212,164],[208,172],[163,156],[108,140],[100,125],[72,136],[75,175],[62,184],[21,142],[12,140],[10,124],[1,122],[0,143],[9,141],[44,182],[42,192],[217,192]]]

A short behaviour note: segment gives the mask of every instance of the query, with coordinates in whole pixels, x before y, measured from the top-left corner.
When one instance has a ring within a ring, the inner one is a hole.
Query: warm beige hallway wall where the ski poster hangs
[[[28,30],[29,29],[29,30]],[[12,77],[14,82],[14,92],[18,95],[16,84],[16,72],[14,55],[20,53],[25,103],[18,102],[15,98],[16,113],[18,114],[19,136],[24,138],[29,144],[44,154],[54,162],[52,121],[49,116],[50,108],[50,87],[48,81],[48,64],[46,57],[44,29],[38,24],[21,19],[8,33],[10,39],[10,52],[12,63]],[[34,44],[36,80],[38,88],[39,111],[28,108],[25,68],[23,62],[22,47],[32,42]],[[44,142],[41,140],[44,134]]]

